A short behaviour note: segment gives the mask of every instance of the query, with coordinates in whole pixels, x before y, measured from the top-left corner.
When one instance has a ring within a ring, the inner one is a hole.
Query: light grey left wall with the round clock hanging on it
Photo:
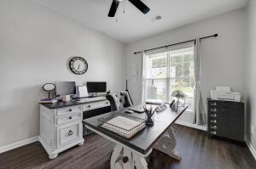
[[[39,134],[38,100],[45,82],[106,81],[125,89],[125,45],[67,20],[32,0],[0,1],[0,147]],[[89,69],[74,75],[71,56]]]

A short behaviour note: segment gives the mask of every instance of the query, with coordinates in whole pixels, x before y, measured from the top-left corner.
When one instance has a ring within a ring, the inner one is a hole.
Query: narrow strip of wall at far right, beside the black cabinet
[[[247,138],[256,149],[256,1],[247,3]]]

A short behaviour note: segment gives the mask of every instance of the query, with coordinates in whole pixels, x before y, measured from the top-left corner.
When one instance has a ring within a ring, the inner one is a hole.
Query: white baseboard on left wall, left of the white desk
[[[37,142],[37,141],[38,141],[38,136],[34,137],[34,138],[28,138],[28,139],[25,139],[25,140],[21,140],[20,142],[16,142],[14,144],[4,145],[3,147],[0,147],[0,153],[3,153],[5,151],[9,151],[11,149],[16,149],[16,148],[21,147],[21,146],[26,145],[26,144],[32,144],[32,143]]]

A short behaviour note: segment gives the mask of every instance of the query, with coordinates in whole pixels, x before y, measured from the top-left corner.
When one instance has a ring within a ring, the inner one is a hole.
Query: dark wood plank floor
[[[174,126],[177,150],[182,161],[174,161],[167,155],[153,151],[150,169],[256,169],[246,145],[225,139],[207,138],[204,132],[189,127]],[[83,146],[61,153],[50,161],[40,143],[28,144],[0,154],[0,168],[61,168],[61,169],[109,169],[109,156],[113,144],[98,135],[86,138]]]

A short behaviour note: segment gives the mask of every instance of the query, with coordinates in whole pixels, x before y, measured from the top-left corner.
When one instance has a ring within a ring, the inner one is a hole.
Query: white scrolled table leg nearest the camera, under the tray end
[[[150,151],[151,152],[151,151]],[[148,169],[148,163],[145,156],[137,154],[131,149],[125,149],[120,145],[116,145],[111,156],[111,169]]]

